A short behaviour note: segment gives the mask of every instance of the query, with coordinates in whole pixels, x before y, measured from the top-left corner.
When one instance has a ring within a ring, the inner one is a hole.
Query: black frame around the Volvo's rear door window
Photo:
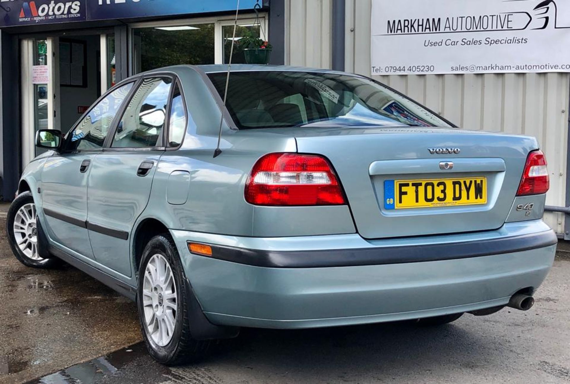
[[[170,113],[166,114],[166,117],[164,119],[165,127],[162,129],[160,140],[157,143],[160,145],[154,147],[116,147],[116,148],[111,147],[113,139],[115,138],[117,127],[119,126],[119,122],[123,119],[123,115],[125,114],[125,111],[127,110],[129,104],[131,104],[132,98],[135,97],[135,93],[137,92],[137,90],[139,90],[140,85],[143,84],[143,81],[145,79],[168,78],[172,80],[173,85],[176,84],[176,82],[178,81],[178,76],[174,72],[152,72],[152,73],[146,73],[144,75],[135,75],[135,76],[139,78],[135,86],[135,90],[129,94],[128,102],[125,102],[121,106],[119,112],[117,112],[116,118],[113,120],[113,123],[111,125],[111,129],[109,129],[109,133],[105,138],[105,142],[103,144],[103,152],[165,151],[168,149],[164,144],[166,143],[166,140],[168,140],[168,136],[165,136],[165,134],[166,131],[168,130],[168,127],[170,126]],[[166,105],[166,110],[168,111],[170,111],[170,104],[172,104],[173,92],[174,92],[174,86],[171,86],[168,93],[168,104]]]

